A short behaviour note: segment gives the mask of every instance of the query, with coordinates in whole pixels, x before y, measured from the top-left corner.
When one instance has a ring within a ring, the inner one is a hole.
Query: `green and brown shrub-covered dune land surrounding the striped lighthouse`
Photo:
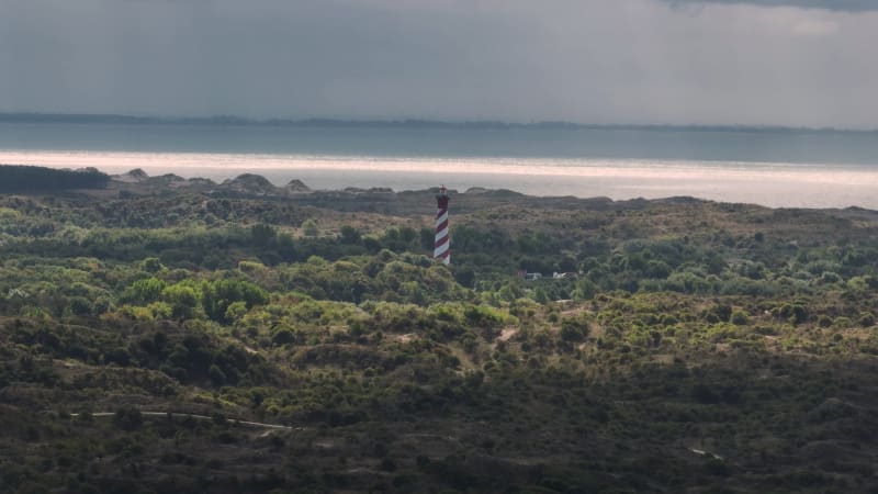
[[[878,213],[125,187],[0,197],[0,492],[878,491]]]

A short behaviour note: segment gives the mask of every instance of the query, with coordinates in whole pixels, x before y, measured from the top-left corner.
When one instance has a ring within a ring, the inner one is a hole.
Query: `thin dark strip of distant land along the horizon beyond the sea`
[[[64,123],[119,125],[225,125],[274,127],[375,127],[375,128],[495,128],[495,130],[618,130],[665,132],[748,132],[788,134],[876,134],[878,128],[788,127],[759,125],[662,125],[662,124],[585,124],[564,121],[502,122],[438,121],[421,119],[247,119],[235,115],[214,116],[138,116],[89,113],[0,112],[0,123]]]

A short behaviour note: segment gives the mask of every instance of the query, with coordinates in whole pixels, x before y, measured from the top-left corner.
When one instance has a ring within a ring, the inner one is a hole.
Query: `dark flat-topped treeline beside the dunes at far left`
[[[110,177],[93,168],[56,170],[44,167],[0,165],[0,192],[58,191],[70,189],[104,189]]]

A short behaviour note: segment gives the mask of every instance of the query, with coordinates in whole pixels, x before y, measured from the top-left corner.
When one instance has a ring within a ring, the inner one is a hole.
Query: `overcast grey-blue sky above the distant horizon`
[[[878,0],[0,0],[0,111],[875,128]]]

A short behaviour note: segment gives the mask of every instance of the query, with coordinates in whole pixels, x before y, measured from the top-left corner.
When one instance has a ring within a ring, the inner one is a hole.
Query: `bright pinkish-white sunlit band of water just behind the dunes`
[[[384,187],[419,190],[440,183],[510,189],[533,195],[676,195],[767,206],[878,210],[878,167],[837,164],[596,159],[540,157],[373,157],[351,155],[151,153],[0,149],[0,164],[95,167],[110,173],[142,168],[215,181],[258,173],[274,184],[292,179],[312,189]]]

